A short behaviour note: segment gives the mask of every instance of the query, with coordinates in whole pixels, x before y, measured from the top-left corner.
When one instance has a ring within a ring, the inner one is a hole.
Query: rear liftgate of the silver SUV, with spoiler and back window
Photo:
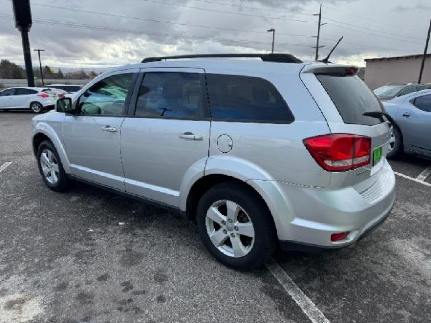
[[[332,183],[336,183],[338,179],[343,186],[360,183],[383,167],[391,133],[388,121],[382,122],[378,118],[363,115],[365,112],[383,110],[374,93],[355,74],[356,68],[348,65],[323,64],[306,65],[300,73],[300,78],[325,116],[331,133],[371,138],[369,165],[353,171],[334,173],[331,177]],[[373,162],[374,151],[377,154],[380,149],[381,158]]]

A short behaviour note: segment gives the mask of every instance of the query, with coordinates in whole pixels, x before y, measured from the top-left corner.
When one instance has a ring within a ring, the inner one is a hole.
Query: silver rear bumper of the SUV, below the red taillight
[[[395,202],[395,175],[386,160],[382,163],[377,173],[356,186],[331,189],[274,181],[256,183],[271,210],[283,248],[343,248],[383,223]],[[349,235],[332,242],[331,234],[340,232]]]

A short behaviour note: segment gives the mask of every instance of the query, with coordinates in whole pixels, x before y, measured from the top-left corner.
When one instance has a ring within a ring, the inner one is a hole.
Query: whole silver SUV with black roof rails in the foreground
[[[201,59],[215,56],[113,69],[36,116],[47,186],[81,180],[175,209],[214,258],[242,270],[278,245],[352,245],[386,219],[391,125],[355,67]]]

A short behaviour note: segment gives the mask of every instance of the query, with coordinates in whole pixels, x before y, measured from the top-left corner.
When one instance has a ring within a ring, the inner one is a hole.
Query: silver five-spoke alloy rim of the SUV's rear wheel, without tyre
[[[209,239],[225,255],[240,258],[254,244],[254,227],[247,212],[235,202],[219,200],[206,212]]]

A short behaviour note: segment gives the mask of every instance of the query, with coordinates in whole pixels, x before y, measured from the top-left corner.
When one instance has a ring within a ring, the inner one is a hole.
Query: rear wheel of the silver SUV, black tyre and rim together
[[[209,253],[234,269],[256,268],[275,249],[277,235],[267,206],[240,183],[216,185],[202,196],[197,227]]]

